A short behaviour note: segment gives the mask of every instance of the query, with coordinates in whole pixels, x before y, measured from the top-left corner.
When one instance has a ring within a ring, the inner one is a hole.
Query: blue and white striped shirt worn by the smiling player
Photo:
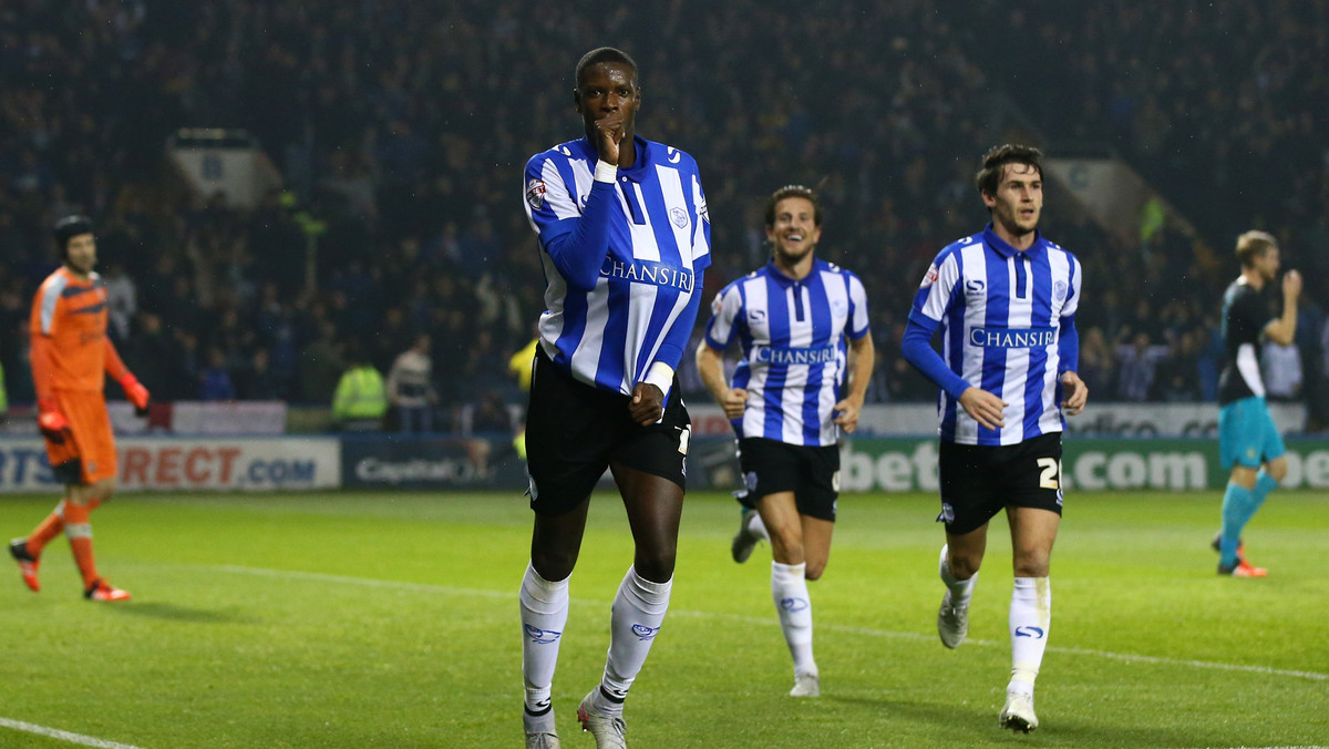
[[[795,281],[768,262],[726,286],[711,302],[706,345],[723,351],[735,338],[742,358],[734,387],[746,388],[738,436],[832,446],[832,408],[847,375],[845,337],[868,334],[868,295],[859,277],[813,259]]]

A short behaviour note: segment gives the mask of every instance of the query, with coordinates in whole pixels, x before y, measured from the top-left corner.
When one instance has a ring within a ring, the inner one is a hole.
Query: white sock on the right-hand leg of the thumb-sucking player
[[[622,714],[623,698],[646,663],[655,635],[664,624],[668,595],[674,580],[653,583],[627,568],[623,583],[614,596],[610,615],[609,657],[605,677],[599,682],[595,705],[605,714]]]

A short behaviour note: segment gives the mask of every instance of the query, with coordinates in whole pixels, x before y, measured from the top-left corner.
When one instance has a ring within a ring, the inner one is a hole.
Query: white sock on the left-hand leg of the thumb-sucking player
[[[558,644],[567,624],[567,580],[550,583],[530,564],[517,593],[521,605],[521,677],[526,685],[526,710],[549,712],[549,693],[558,665]]]

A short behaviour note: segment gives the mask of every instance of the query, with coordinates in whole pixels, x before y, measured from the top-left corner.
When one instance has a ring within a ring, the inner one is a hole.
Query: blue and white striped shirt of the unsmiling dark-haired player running
[[[941,326],[941,358],[949,370],[933,376],[942,388],[941,439],[1017,444],[1065,428],[1059,374],[1078,366],[1079,297],[1079,261],[1042,234],[1019,251],[989,225],[941,250],[909,313],[910,327],[918,326],[926,338]],[[936,357],[930,349],[926,354]],[[926,362],[916,358],[909,355],[926,374]],[[1007,403],[1005,427],[983,428],[960,407],[969,386]]]

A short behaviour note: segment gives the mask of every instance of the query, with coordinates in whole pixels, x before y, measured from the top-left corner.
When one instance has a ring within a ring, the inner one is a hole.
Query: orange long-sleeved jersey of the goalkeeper
[[[80,281],[61,266],[47,277],[32,301],[29,325],[39,396],[52,390],[102,390],[108,317],[106,282],[97,273]]]

